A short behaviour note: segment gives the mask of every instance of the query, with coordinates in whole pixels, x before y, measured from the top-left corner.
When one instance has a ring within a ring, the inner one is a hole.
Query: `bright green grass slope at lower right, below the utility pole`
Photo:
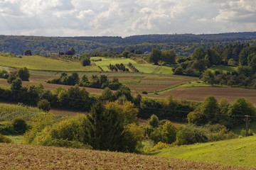
[[[255,146],[256,136],[252,136],[219,142],[169,147],[157,152],[152,152],[151,155],[200,162],[256,166]]]

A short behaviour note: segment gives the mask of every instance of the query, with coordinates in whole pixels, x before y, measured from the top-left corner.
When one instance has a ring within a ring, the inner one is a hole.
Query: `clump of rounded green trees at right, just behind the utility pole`
[[[244,115],[256,115],[256,108],[245,98],[238,98],[230,104],[223,98],[220,103],[214,96],[208,96],[201,106],[188,114],[188,123],[205,125],[220,123],[227,128],[244,123]]]

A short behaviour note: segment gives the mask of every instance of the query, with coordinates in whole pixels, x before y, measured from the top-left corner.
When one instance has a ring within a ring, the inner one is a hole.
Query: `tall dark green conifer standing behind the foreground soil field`
[[[124,126],[116,110],[106,109],[101,102],[95,103],[88,120],[90,145],[93,149],[122,151]]]

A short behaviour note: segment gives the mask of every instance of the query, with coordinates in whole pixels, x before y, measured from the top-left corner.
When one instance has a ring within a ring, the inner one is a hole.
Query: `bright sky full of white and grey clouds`
[[[0,35],[256,31],[255,0],[0,0]]]

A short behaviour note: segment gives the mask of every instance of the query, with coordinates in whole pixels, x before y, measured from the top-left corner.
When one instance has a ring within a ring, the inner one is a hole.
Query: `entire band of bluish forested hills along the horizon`
[[[21,55],[24,50],[32,53],[65,52],[74,47],[77,54],[93,51],[142,50],[151,52],[152,48],[159,50],[173,49],[178,55],[191,55],[197,47],[223,47],[234,43],[256,44],[256,32],[251,33],[221,33],[221,34],[174,34],[174,35],[133,35],[121,37],[41,37],[0,35],[0,51],[14,52]]]

